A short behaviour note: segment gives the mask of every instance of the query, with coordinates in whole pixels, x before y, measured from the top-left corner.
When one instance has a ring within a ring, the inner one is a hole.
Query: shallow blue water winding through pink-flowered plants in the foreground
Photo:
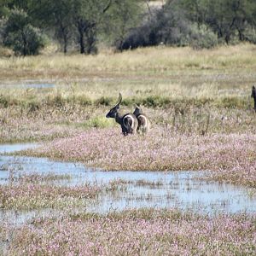
[[[6,156],[35,144],[0,146],[0,184],[20,173],[68,174],[72,179],[53,181],[63,186],[84,183],[108,184],[115,181],[118,189],[103,193],[96,201],[89,201],[86,212],[121,211],[130,208],[155,207],[193,209],[210,214],[218,212],[256,212],[256,196],[248,189],[230,184],[209,183],[197,177],[205,172],[104,172],[91,170],[82,164],[66,163],[45,158]],[[44,217],[60,212],[50,209],[30,212],[0,211],[0,219],[12,223]]]

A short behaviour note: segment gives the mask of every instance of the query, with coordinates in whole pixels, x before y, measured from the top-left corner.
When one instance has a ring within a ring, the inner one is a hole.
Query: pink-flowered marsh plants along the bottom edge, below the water
[[[79,214],[12,228],[10,254],[253,254],[255,218],[198,216],[178,210]],[[1,233],[4,236],[6,228]]]

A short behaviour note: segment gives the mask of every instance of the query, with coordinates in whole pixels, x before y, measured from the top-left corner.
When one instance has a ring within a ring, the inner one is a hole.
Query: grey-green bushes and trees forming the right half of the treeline
[[[169,0],[150,11],[119,49],[157,44],[201,49],[241,41],[256,44],[255,0]]]

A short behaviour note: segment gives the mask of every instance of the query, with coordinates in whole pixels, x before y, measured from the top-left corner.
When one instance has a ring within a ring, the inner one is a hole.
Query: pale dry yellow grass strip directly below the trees
[[[39,55],[30,57],[5,58],[0,61],[2,72],[4,68],[20,71],[55,70],[76,73],[131,71],[137,73],[158,73],[180,69],[225,70],[230,68],[255,67],[256,46],[241,44],[222,46],[216,49],[196,51],[189,47],[148,47],[128,50],[123,53],[105,52],[99,55]],[[139,69],[139,70],[138,70]]]

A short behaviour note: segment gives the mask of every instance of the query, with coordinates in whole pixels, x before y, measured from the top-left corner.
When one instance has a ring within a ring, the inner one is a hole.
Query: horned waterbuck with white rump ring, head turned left
[[[137,131],[137,118],[133,113],[119,113],[119,105],[122,102],[122,95],[119,93],[119,101],[117,104],[109,110],[106,118],[113,118],[115,121],[121,125],[122,132],[126,136],[128,134],[133,134]]]

